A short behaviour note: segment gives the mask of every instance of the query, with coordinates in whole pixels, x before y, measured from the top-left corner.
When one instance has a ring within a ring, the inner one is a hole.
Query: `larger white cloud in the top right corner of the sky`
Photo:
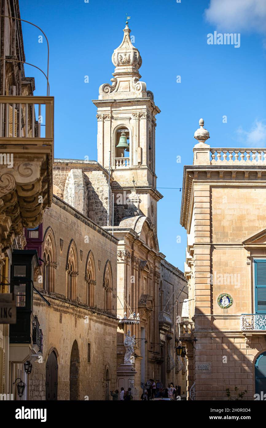
[[[265,0],[210,0],[205,18],[216,30],[266,34]]]

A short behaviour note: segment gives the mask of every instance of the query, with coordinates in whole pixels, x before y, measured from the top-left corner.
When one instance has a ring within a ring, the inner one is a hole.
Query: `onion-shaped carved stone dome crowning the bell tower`
[[[139,51],[132,45],[130,40],[131,30],[128,25],[123,30],[124,38],[121,45],[114,50],[112,62],[115,65],[115,72],[137,71],[142,64]],[[131,70],[129,70],[129,67]]]

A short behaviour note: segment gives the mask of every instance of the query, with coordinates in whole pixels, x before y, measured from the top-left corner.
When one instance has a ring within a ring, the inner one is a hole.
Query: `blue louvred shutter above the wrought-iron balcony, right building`
[[[266,259],[254,260],[255,313],[266,314]]]

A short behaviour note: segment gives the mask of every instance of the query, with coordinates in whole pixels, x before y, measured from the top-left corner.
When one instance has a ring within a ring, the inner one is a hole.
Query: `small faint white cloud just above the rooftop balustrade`
[[[241,126],[237,129],[237,139],[248,147],[262,148],[266,146],[266,124],[256,120],[249,131],[245,131]]]

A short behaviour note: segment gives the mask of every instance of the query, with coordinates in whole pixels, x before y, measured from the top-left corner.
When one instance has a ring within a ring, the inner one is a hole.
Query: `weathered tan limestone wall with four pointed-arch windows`
[[[55,236],[55,289],[53,293],[47,292],[38,282],[35,283],[51,306],[38,294],[34,295],[34,313],[44,334],[44,345],[43,362],[33,364],[29,377],[29,399],[45,399],[46,364],[53,350],[58,361],[58,400],[70,399],[70,357],[76,341],[79,352],[78,399],[104,400],[106,389],[116,388],[117,377],[118,241],[56,197],[53,198],[52,207],[45,211],[43,225],[44,233],[50,226]],[[71,239],[75,241],[78,256],[76,301],[67,298],[66,263]],[[95,264],[94,303],[97,308],[94,309],[86,304],[85,269],[89,251],[93,253]],[[103,282],[108,260],[112,270],[111,305],[114,309],[107,315],[104,312]],[[88,343],[91,348],[90,362]]]

